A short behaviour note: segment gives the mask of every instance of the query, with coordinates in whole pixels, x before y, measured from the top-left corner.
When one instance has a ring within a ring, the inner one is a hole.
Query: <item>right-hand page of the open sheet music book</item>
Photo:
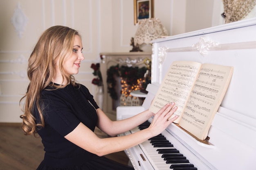
[[[207,137],[211,122],[229,86],[232,73],[233,67],[202,65],[180,120],[182,128],[201,140]]]

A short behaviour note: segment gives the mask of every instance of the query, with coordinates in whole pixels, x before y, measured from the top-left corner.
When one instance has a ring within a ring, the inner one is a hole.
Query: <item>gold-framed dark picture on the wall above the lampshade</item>
[[[139,20],[154,17],[154,0],[134,0],[134,24]]]

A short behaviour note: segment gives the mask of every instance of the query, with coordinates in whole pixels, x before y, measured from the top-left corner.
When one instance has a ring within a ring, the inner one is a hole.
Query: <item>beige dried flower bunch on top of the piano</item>
[[[225,23],[242,20],[256,5],[256,0],[223,0]]]

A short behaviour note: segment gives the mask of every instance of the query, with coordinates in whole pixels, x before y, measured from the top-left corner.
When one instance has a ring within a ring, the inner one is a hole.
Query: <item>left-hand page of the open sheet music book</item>
[[[157,113],[166,103],[175,102],[178,109],[171,118],[179,115],[175,120],[175,123],[179,123],[201,65],[191,61],[174,61],[164,76],[149,110]]]

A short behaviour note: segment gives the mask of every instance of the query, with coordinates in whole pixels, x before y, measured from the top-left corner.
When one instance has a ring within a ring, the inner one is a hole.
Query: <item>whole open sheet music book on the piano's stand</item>
[[[178,107],[174,123],[204,140],[225,96],[233,67],[174,61],[168,69],[149,108],[157,113],[166,103]],[[173,117],[171,116],[171,118]]]

